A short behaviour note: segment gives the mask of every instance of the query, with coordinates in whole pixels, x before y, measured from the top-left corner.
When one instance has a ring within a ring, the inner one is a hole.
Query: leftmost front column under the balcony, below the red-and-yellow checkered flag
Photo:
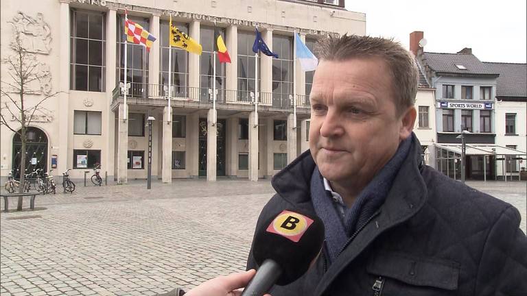
[[[117,132],[119,133],[117,135],[117,184],[128,183],[128,114],[126,114],[126,119],[124,119],[124,112],[124,104],[119,104],[119,120],[117,121]]]

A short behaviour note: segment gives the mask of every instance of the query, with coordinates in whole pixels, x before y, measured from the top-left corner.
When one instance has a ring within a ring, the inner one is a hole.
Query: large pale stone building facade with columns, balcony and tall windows
[[[155,7],[151,1],[125,2],[2,1],[2,58],[14,55],[9,45],[19,32],[25,51],[38,61],[45,77],[30,84],[33,91],[25,103],[35,106],[55,94],[32,115],[28,171],[53,169],[53,175],[60,175],[72,169],[71,177],[81,178],[99,163],[110,180],[124,184],[143,179],[152,116],[152,175],[163,182],[274,175],[307,149],[312,73],[301,71],[293,60],[293,33],[313,47],[320,36],[363,35],[366,27],[365,15],[344,10],[343,1],[161,0]],[[125,8],[131,21],[157,38],[150,51],[127,45],[128,108],[119,89],[125,75]],[[200,42],[201,56],[169,49],[171,14],[174,25]],[[214,25],[231,56],[230,64],[216,61],[215,110],[209,96]],[[255,58],[255,27],[278,59],[261,53]],[[12,69],[2,65],[1,71],[4,78]],[[1,103],[9,105],[5,96]],[[2,108],[2,114],[16,115],[8,108]],[[15,119],[10,122],[19,128]],[[4,125],[0,132],[0,175],[11,170],[16,175],[20,138]]]

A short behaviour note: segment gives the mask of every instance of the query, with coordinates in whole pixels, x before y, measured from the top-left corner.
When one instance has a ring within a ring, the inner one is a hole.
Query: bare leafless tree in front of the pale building
[[[42,64],[34,54],[25,49],[21,39],[22,33],[16,27],[14,29],[14,40],[10,44],[14,55],[1,60],[3,64],[8,66],[8,79],[10,78],[10,81],[1,80],[0,125],[5,125],[21,138],[19,193],[23,193],[27,128],[30,127],[35,116],[42,112],[42,103],[60,92],[51,93],[51,88],[47,90],[31,88],[34,82],[39,82],[39,84],[40,82],[49,82],[49,73],[41,71]],[[22,198],[19,198],[19,206],[22,206]]]

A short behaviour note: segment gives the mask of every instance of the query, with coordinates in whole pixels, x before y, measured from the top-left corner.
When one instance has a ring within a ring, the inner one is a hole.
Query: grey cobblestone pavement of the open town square
[[[526,182],[469,185],[519,208],[525,232]],[[39,195],[35,211],[0,214],[0,295],[155,295],[242,270],[273,192],[177,180]]]

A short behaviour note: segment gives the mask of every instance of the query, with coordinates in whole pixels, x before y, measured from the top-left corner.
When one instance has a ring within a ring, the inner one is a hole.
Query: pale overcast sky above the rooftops
[[[393,37],[408,48],[423,31],[425,51],[456,53],[471,47],[483,62],[526,62],[526,0],[346,0],[366,13],[366,34]]]

